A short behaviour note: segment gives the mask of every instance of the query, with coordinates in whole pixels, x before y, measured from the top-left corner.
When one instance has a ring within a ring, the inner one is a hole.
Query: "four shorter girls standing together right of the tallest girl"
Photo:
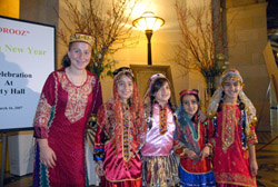
[[[117,69],[113,98],[97,116],[101,186],[257,186],[256,110],[242,87],[237,70],[224,72],[203,118],[198,90],[182,90],[175,109],[170,82],[157,73],[141,101],[132,70]]]

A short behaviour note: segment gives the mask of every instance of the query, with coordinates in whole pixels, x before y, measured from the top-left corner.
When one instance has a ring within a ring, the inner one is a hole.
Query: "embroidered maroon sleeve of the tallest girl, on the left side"
[[[58,91],[58,77],[56,72],[49,75],[39,99],[36,116],[33,119],[34,137],[48,138],[48,126],[53,118],[53,106]]]

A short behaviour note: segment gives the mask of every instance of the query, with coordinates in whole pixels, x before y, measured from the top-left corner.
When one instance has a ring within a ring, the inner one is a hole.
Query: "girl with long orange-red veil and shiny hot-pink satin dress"
[[[113,99],[98,111],[95,141],[97,174],[103,187],[140,187],[138,155],[146,135],[143,107],[130,68],[113,72]]]

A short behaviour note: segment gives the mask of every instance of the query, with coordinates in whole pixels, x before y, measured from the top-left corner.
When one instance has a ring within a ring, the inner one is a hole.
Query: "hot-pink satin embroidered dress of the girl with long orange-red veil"
[[[142,173],[138,138],[141,132],[135,127],[136,114],[131,112],[129,105],[120,105],[122,108],[118,109],[122,112],[122,126],[116,125],[118,121],[115,117],[113,99],[103,105],[98,112],[95,159],[103,160],[105,178],[101,178],[101,186],[112,187],[117,183],[117,186],[121,187],[140,187]],[[140,125],[143,128],[143,124]],[[121,131],[121,135],[117,136],[116,131]]]

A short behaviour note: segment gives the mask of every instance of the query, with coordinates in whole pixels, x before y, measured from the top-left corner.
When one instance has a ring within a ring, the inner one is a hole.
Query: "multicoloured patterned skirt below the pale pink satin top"
[[[142,186],[170,187],[179,184],[178,165],[173,155],[141,157]]]

